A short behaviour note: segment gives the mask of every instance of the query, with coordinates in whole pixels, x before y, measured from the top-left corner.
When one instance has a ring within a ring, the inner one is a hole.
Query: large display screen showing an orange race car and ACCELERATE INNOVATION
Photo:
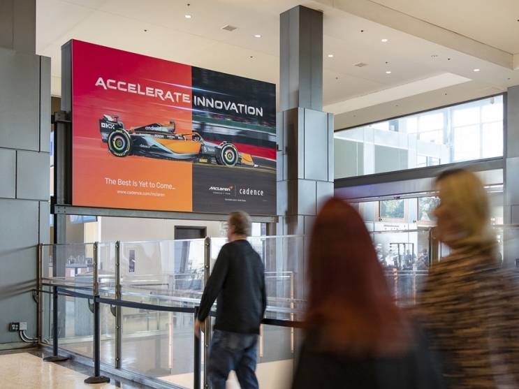
[[[63,52],[73,205],[276,214],[275,85],[81,41]]]

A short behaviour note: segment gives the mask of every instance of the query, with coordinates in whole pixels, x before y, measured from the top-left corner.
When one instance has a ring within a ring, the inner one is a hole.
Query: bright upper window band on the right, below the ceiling
[[[503,156],[503,96],[335,132],[335,179]]]

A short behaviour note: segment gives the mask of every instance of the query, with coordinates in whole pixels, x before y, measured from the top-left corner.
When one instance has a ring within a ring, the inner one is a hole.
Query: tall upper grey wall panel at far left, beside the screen
[[[0,48],[0,74],[0,147],[38,151],[40,57]]]

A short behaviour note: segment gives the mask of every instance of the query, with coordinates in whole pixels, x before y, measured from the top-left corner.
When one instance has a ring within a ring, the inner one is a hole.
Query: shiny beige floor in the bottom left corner
[[[37,348],[0,352],[0,387],[2,389],[150,388],[103,372],[101,374],[110,377],[110,383],[89,385],[83,381],[93,374],[93,367],[81,365],[73,360],[43,362],[45,356],[48,355]]]

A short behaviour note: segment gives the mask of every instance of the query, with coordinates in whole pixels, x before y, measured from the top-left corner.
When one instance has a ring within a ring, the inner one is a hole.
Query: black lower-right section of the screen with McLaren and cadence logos
[[[193,212],[275,215],[276,191],[275,172],[193,165]]]

